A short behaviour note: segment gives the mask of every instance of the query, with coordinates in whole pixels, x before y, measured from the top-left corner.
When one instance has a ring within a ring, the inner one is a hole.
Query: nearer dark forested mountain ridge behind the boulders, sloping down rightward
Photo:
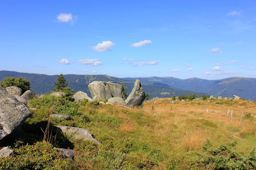
[[[37,94],[50,93],[54,88],[54,82],[57,80],[57,75],[48,76],[42,74],[29,74],[15,71],[0,71],[0,81],[6,77],[23,77],[27,78],[30,81],[31,89],[34,90]],[[88,85],[93,81],[111,81],[114,83],[122,83],[127,87],[127,92],[131,92],[134,86],[135,80],[125,80],[115,77],[110,77],[107,75],[64,75],[66,80],[69,83],[69,87],[74,89],[75,92],[83,91],[86,92],[89,96],[91,93],[89,91]],[[145,93],[150,94],[150,99],[158,96],[159,98],[169,98],[173,95],[188,95],[194,93],[198,96],[201,96],[205,93],[195,92],[190,90],[175,89],[172,87],[166,87],[166,85],[154,85],[142,83],[142,88]]]

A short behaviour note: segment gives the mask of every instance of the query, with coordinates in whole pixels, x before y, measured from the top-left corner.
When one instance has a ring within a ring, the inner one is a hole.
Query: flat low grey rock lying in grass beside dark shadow
[[[98,140],[93,138],[91,132],[87,129],[83,128],[75,128],[75,127],[69,127],[69,126],[56,126],[59,128],[62,132],[65,132],[67,135],[71,135],[71,139],[83,139],[83,140],[91,140],[95,144],[101,144]]]

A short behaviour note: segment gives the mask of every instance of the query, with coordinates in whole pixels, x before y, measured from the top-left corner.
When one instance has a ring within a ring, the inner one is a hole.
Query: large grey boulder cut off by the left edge
[[[29,108],[24,103],[8,94],[0,85],[0,141],[18,131],[30,114]]]

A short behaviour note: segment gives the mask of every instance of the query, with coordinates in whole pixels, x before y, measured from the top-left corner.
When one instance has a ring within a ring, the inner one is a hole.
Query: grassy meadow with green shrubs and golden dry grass
[[[98,102],[77,104],[67,96],[29,101],[33,116],[10,145],[14,154],[0,158],[0,169],[256,168],[254,102],[211,99],[172,104],[171,99],[160,99],[130,110]],[[232,120],[227,110],[233,110]],[[74,120],[50,118],[53,113]],[[65,134],[43,141],[48,121],[51,127],[86,128],[102,144],[72,141]],[[72,149],[75,159],[63,159],[56,147]]]

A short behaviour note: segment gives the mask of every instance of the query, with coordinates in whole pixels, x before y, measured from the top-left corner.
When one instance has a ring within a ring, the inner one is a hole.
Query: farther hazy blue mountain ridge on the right
[[[177,79],[174,77],[123,78],[141,83],[162,85],[175,89],[183,89],[207,93],[214,96],[232,98],[236,94],[246,100],[256,101],[256,79],[231,77],[221,80],[205,80],[198,78]]]

